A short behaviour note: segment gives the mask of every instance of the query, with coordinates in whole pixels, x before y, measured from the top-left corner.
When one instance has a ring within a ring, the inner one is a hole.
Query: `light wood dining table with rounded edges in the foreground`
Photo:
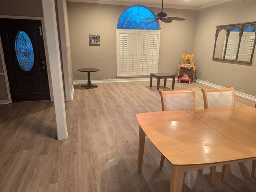
[[[254,107],[149,112],[136,117],[140,124],[138,172],[147,135],[171,164],[170,192],[182,190],[184,172],[247,159],[253,160],[252,177],[256,176]]]

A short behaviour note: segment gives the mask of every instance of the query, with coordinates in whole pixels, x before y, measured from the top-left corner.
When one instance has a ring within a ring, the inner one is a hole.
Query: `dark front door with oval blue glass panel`
[[[40,20],[0,20],[1,40],[13,102],[50,100]]]

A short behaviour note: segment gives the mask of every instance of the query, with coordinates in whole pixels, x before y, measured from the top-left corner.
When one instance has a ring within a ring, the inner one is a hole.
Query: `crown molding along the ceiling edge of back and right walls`
[[[148,4],[145,3],[143,1],[134,1],[134,2],[112,2],[109,0],[106,1],[102,1],[102,0],[67,0],[70,2],[80,2],[80,3],[94,3],[94,4],[108,4],[108,5],[123,5],[123,6],[133,6],[133,5],[137,5],[137,4],[141,4],[147,7],[154,7],[154,8],[161,8],[162,5],[160,4]],[[218,5],[218,4],[222,4],[222,3],[226,3],[232,0],[220,0],[220,1],[214,1],[214,2],[209,2],[206,3],[202,6],[177,6],[177,5],[164,5],[164,8],[169,8],[169,9],[186,9],[186,10],[200,10],[200,9],[204,9],[207,7],[211,7],[214,5]]]

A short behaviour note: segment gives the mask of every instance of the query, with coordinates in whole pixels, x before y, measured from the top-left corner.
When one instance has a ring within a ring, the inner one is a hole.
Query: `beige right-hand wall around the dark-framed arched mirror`
[[[256,96],[256,51],[252,65],[213,61],[216,25],[256,21],[256,1],[230,1],[197,11],[194,35],[197,78]]]

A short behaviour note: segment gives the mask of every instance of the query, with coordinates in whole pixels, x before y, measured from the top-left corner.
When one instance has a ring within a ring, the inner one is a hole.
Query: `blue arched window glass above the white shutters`
[[[138,30],[159,30],[159,22],[152,20],[141,20],[143,18],[156,18],[155,14],[148,8],[135,5],[126,9],[121,15],[117,23],[118,29],[138,29]]]

